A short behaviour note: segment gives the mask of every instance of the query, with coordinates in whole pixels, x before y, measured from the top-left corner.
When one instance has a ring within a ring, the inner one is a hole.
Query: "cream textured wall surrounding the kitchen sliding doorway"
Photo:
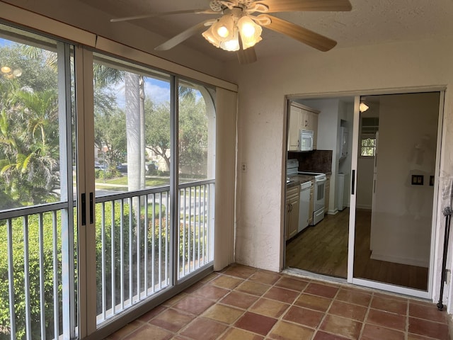
[[[282,269],[285,95],[448,87],[453,85],[452,60],[449,41],[430,39],[285,55],[246,66],[231,64],[226,72],[240,89],[238,163],[248,164],[248,172],[239,171],[237,180],[236,261],[272,271]],[[452,106],[453,95],[447,91],[440,188],[452,179]],[[443,242],[439,237],[443,235],[440,206],[434,259],[436,292]]]

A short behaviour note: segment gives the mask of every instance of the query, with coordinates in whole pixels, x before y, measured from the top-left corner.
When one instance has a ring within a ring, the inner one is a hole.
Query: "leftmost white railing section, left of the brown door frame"
[[[0,339],[58,339],[74,329],[69,213],[67,203],[1,212]]]

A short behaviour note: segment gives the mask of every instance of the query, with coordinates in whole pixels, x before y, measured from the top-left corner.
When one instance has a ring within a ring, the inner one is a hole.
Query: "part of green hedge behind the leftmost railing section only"
[[[52,213],[43,215],[42,223],[42,251],[44,254],[44,303],[45,303],[45,328],[48,339],[53,338],[53,231]],[[61,225],[61,214],[57,213],[57,225]],[[57,228],[57,275],[59,301],[62,300],[62,258],[61,241],[59,235],[61,227]],[[13,278],[14,278],[14,305],[16,312],[16,336],[23,339],[25,336],[25,275],[24,275],[24,237],[22,218],[12,220],[12,244],[13,244]],[[8,242],[6,224],[0,227],[0,339],[9,338],[10,315],[9,315],[9,290],[8,290]],[[30,278],[30,322],[32,339],[40,338],[40,249],[38,215],[28,217],[28,261]],[[61,303],[61,302],[60,302]],[[59,306],[61,311],[61,305]],[[58,320],[56,320],[58,322]],[[7,330],[7,331],[6,331]]]

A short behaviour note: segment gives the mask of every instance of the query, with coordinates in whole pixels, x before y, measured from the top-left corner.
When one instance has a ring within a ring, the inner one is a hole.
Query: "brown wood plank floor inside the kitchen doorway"
[[[370,210],[357,210],[354,277],[420,290],[428,289],[428,268],[370,259]],[[287,242],[286,266],[327,276],[348,276],[349,209],[326,215]]]

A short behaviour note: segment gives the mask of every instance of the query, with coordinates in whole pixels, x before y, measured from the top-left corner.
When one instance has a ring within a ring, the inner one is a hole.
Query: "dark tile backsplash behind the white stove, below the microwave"
[[[332,150],[288,152],[288,159],[299,160],[299,171],[332,172]]]

